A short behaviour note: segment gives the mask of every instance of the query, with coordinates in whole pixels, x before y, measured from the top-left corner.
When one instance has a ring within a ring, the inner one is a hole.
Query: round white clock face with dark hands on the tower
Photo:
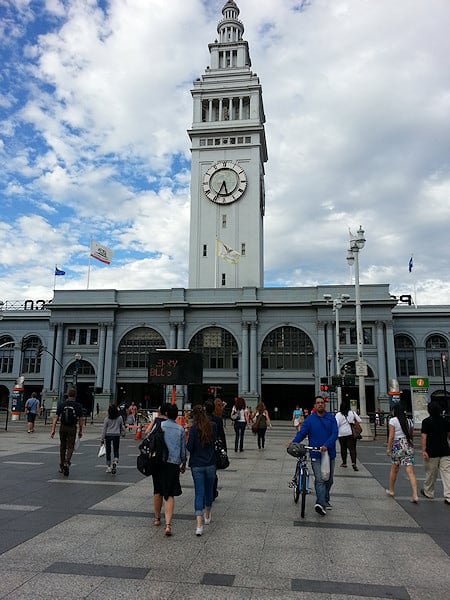
[[[203,177],[203,191],[209,200],[217,204],[231,204],[238,200],[247,188],[244,169],[231,160],[213,164]]]

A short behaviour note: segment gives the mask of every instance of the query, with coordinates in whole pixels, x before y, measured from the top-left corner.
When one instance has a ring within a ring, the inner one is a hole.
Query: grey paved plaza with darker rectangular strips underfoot
[[[450,594],[450,506],[410,502],[400,472],[396,498],[385,487],[385,438],[360,442],[360,470],[336,467],[333,509],[321,517],[308,496],[305,519],[288,483],[289,423],[274,422],[258,451],[230,452],[219,474],[211,525],[195,536],[193,483],[182,476],[173,536],[152,525],[151,481],[136,470],[127,434],[115,476],[97,458],[100,421],[84,430],[68,478],[58,473],[49,425],[27,434],[0,424],[0,598],[440,600]],[[233,449],[234,432],[226,428]],[[423,465],[418,454],[419,488]],[[339,460],[337,461],[339,465]],[[344,472],[345,471],[345,472]]]

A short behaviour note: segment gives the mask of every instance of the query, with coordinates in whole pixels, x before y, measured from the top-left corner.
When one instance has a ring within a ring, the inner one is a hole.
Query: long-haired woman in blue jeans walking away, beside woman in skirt
[[[216,476],[216,453],[214,440],[216,425],[212,423],[203,409],[196,405],[192,409],[192,427],[189,430],[187,449],[189,466],[194,480],[194,511],[196,520],[195,535],[203,534],[203,524],[211,523],[213,486]]]

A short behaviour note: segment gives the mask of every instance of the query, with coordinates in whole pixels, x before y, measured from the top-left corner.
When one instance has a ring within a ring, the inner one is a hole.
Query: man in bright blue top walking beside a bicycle
[[[338,427],[335,417],[325,410],[325,400],[322,396],[316,396],[314,400],[315,411],[302,423],[300,431],[292,440],[294,443],[300,443],[305,437],[308,437],[309,446],[320,448],[320,452],[310,451],[311,465],[314,471],[314,487],[316,489],[315,511],[319,515],[325,516],[326,509],[331,510],[330,489],[333,485],[334,462],[336,458],[336,440],[338,437]],[[330,456],[330,477],[324,481],[320,470],[321,452],[326,452]]]

